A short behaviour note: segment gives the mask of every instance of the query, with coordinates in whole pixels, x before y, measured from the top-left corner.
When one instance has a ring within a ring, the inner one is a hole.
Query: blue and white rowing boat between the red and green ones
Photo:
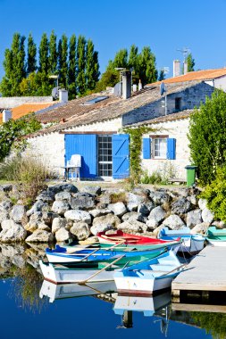
[[[116,247],[110,247],[108,249],[79,249],[77,251],[76,246],[68,252],[67,248],[56,245],[54,250],[46,248],[46,257],[49,262],[52,263],[72,263],[78,261],[91,261],[91,260],[111,260],[116,255],[123,255],[126,258],[132,258],[135,256],[142,256],[144,259],[154,258],[164,251],[164,247],[155,249],[149,249],[144,251],[134,250],[132,248],[124,248],[123,251],[115,251]]]

